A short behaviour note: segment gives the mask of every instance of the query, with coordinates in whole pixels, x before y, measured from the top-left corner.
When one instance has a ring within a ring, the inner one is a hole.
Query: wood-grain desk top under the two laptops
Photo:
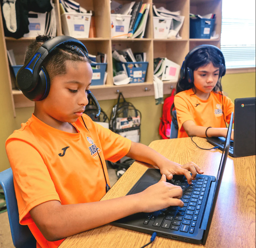
[[[194,138],[200,146],[210,148],[204,138]],[[217,175],[221,151],[195,147],[190,138],[156,140],[150,145],[165,157],[180,164],[193,161],[205,175]],[[135,162],[102,200],[126,195],[147,170]],[[255,156],[228,157],[208,239],[204,247],[255,248]],[[66,238],[59,248],[140,248],[150,235],[121,227],[105,225]],[[156,237],[149,248],[199,247],[181,241]]]

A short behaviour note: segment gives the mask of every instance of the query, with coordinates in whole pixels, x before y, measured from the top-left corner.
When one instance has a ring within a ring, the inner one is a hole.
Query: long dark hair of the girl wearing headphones
[[[224,72],[223,58],[217,52],[217,49],[211,47],[204,47],[196,50],[193,54],[190,55],[188,60],[186,61],[186,68],[190,68],[192,73],[197,70],[199,67],[203,67],[208,65],[210,62],[213,63],[213,66],[219,68],[219,80],[214,87],[213,91],[216,93],[222,92],[221,86],[221,75]],[[194,82],[189,83],[187,77],[185,79],[179,78],[177,86],[176,86],[176,94],[181,91],[186,91],[194,88]],[[222,93],[221,93],[222,94]],[[174,103],[171,106],[171,117],[172,119],[176,118],[173,116],[172,111],[174,110]]]

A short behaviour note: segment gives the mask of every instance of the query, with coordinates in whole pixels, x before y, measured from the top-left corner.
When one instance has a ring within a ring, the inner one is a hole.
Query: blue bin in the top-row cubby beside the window
[[[210,39],[214,29],[215,19],[190,18],[190,38],[191,39]]]

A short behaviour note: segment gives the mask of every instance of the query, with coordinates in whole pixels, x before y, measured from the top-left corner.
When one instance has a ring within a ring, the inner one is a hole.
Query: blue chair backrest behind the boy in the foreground
[[[19,211],[11,168],[0,172],[0,185],[5,195],[13,245],[16,248],[36,248],[36,239],[30,232],[28,226],[22,226],[19,223]]]

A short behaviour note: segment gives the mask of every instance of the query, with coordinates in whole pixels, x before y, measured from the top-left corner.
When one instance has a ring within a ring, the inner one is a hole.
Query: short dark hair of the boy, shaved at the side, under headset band
[[[30,57],[42,46],[47,40],[51,40],[52,37],[48,35],[38,35],[28,46],[25,53],[24,64],[30,59]],[[76,45],[63,44],[58,46],[51,52],[44,62],[43,66],[46,68],[49,77],[55,77],[57,75],[66,74],[66,61],[84,61],[90,63],[90,59],[84,54],[84,51]]]

